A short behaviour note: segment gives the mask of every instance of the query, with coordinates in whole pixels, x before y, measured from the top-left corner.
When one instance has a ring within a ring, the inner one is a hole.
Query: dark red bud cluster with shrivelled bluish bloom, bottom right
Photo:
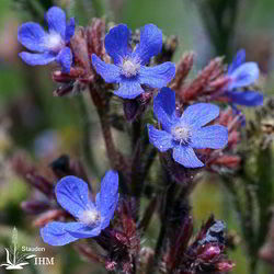
[[[228,272],[233,263],[224,254],[226,227],[212,216],[191,242],[192,218],[185,217],[179,235],[173,236],[174,249],[164,256],[164,267],[171,273],[219,273]]]

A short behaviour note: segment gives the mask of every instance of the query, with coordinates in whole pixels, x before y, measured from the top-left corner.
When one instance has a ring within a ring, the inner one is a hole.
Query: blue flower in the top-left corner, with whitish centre
[[[75,34],[75,19],[66,23],[66,13],[57,7],[50,8],[45,19],[49,32],[37,23],[27,22],[19,27],[18,39],[27,49],[35,53],[20,53],[19,56],[31,66],[47,65],[57,61],[64,72],[69,72],[72,54],[67,44]]]

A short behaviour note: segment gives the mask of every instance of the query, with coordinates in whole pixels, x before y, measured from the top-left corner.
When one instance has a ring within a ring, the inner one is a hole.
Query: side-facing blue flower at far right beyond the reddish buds
[[[230,82],[226,88],[225,95],[231,103],[256,106],[263,104],[263,95],[256,91],[239,91],[236,89],[253,84],[260,76],[256,62],[244,62],[246,52],[241,49],[237,53],[232,64],[228,67],[227,75]]]

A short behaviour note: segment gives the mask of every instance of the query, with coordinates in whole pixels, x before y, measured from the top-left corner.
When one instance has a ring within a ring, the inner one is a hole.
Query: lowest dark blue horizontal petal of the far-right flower
[[[263,104],[263,95],[255,91],[227,91],[225,93],[232,103],[246,106]]]

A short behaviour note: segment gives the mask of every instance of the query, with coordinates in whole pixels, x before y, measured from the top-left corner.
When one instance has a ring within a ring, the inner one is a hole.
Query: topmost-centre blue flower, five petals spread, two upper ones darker
[[[92,55],[96,72],[107,83],[119,83],[114,94],[124,99],[134,99],[145,92],[141,84],[158,89],[165,87],[175,75],[175,65],[170,61],[146,66],[162,48],[162,32],[156,25],[148,24],[140,30],[140,43],[135,50],[129,46],[130,36],[130,30],[124,24],[113,27],[105,36],[105,49],[114,65]]]

